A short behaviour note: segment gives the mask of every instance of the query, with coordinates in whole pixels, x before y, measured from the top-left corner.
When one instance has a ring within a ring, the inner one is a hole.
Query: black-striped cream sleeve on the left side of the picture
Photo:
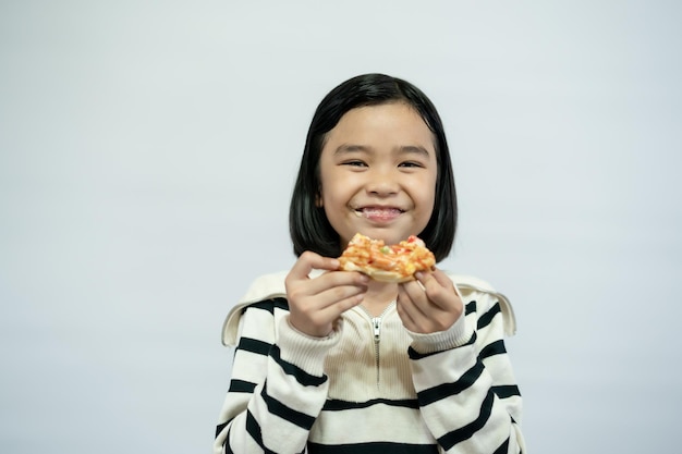
[[[245,308],[214,453],[305,452],[327,398],[324,360],[338,330],[308,338],[290,327],[288,310],[271,304]]]

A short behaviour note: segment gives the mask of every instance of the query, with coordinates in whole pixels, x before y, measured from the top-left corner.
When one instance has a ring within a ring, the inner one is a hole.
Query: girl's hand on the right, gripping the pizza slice
[[[438,269],[417,272],[416,281],[398,286],[398,315],[403,326],[416,333],[446,331],[464,310],[454,284]]]

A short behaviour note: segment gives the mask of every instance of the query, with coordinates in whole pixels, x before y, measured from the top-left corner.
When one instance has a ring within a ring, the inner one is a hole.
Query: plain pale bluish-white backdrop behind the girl
[[[512,300],[533,453],[679,446],[675,1],[0,2],[0,451],[207,453],[321,97],[447,125],[443,268]]]

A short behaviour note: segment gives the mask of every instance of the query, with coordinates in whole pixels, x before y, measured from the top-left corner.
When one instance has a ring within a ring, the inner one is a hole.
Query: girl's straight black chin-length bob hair
[[[456,231],[458,204],[440,115],[428,97],[409,82],[385,74],[364,74],[333,88],[313,115],[289,209],[289,231],[296,256],[312,250],[325,257],[339,257],[345,248],[340,244],[340,236],[329,223],[325,209],[316,205],[321,187],[319,158],[327,133],[351,109],[390,102],[404,102],[414,108],[434,133],[438,163],[434,212],[424,231],[417,235],[434,253],[436,261],[450,254]]]

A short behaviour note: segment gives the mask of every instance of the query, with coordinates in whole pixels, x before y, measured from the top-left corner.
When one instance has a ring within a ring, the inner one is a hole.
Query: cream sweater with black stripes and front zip
[[[226,319],[235,351],[214,453],[525,451],[503,342],[514,315],[487,283],[451,277],[465,312],[448,331],[409,332],[391,304],[317,339],[289,324],[284,277],[256,280]]]

